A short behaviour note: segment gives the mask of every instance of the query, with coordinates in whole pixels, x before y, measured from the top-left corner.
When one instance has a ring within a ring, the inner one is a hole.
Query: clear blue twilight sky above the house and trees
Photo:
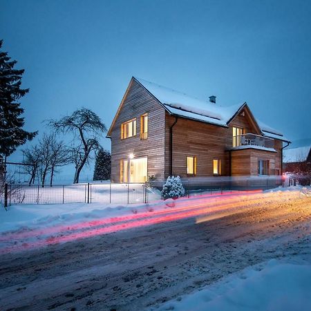
[[[0,0],[0,38],[26,70],[28,130],[81,106],[109,127],[134,75],[224,106],[246,101],[298,140],[311,137],[310,16],[307,0]]]

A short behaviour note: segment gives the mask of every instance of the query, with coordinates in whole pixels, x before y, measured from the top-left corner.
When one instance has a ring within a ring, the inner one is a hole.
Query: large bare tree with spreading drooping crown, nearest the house
[[[50,120],[49,124],[53,126],[56,131],[62,133],[73,133],[74,140],[79,139],[79,144],[74,144],[72,147],[72,160],[75,163],[75,178],[74,183],[79,182],[79,175],[88,162],[92,153],[100,143],[98,139],[106,131],[106,126],[100,120],[100,117],[93,113],[90,109],[82,108],[72,115],[62,117],[60,120]]]

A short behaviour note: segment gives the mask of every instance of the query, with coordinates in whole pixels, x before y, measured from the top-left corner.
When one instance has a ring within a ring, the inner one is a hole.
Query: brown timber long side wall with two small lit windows
[[[166,115],[165,176],[170,174],[169,128],[175,117]],[[232,133],[232,132],[230,132]],[[225,151],[229,129],[178,117],[173,126],[173,175],[187,176],[187,156],[196,156],[196,177],[213,176],[213,160],[220,159],[221,174],[229,174],[229,153]]]

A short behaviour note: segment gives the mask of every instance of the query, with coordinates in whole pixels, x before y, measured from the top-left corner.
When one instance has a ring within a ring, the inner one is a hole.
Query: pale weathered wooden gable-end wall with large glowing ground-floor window
[[[140,116],[148,113],[148,138],[140,140]],[[121,140],[121,124],[136,117],[136,135]],[[164,178],[164,108],[135,80],[131,81],[111,131],[111,180],[120,182],[120,161],[148,158],[148,176]]]

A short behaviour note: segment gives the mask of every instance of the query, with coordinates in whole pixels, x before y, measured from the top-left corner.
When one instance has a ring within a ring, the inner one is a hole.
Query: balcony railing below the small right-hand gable
[[[228,149],[238,148],[242,146],[274,148],[274,139],[252,133],[232,136],[228,138]]]

